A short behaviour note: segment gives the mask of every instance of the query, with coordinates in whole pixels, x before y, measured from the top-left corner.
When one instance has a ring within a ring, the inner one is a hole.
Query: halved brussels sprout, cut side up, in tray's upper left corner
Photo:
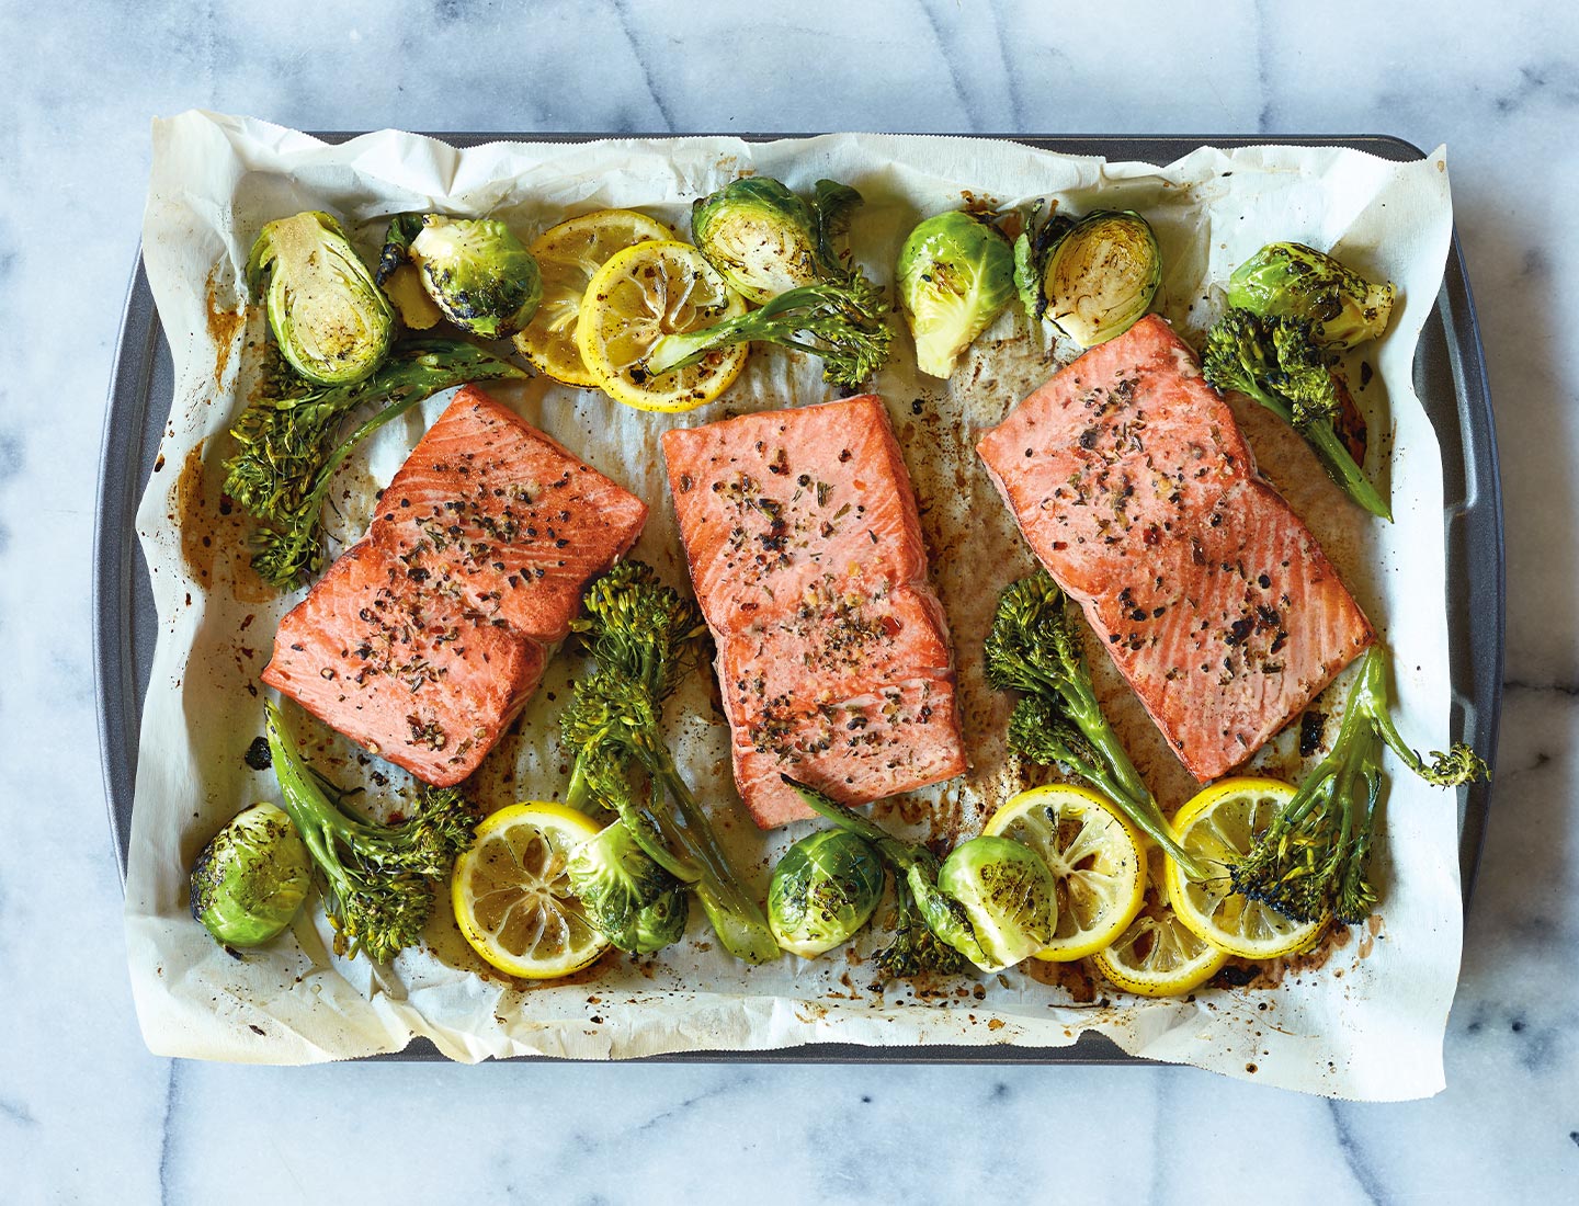
[[[319,385],[351,385],[388,355],[395,311],[327,213],[268,223],[246,260],[268,328],[291,366]]]

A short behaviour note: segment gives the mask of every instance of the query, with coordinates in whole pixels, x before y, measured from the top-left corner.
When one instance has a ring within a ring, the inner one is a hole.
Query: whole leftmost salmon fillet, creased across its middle
[[[281,622],[262,680],[437,786],[477,769],[537,684],[641,499],[464,388],[368,534]]]

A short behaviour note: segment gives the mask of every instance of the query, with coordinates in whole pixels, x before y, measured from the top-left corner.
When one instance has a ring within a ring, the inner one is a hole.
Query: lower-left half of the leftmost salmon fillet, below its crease
[[[542,674],[537,641],[414,586],[362,540],[279,622],[264,682],[369,753],[450,786]]]

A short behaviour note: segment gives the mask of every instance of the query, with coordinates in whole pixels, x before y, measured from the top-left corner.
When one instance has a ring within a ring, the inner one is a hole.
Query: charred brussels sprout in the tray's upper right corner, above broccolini
[[[1393,317],[1391,281],[1371,284],[1304,243],[1268,243],[1228,278],[1228,305],[1262,317],[1303,319],[1325,347],[1375,339]]]

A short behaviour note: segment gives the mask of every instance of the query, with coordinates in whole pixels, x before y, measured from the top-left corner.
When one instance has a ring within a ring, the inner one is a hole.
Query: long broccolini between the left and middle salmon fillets
[[[576,680],[561,717],[562,742],[575,753],[565,802],[616,811],[647,857],[696,893],[731,955],[748,963],[778,958],[761,908],[663,740],[663,701],[696,665],[706,633],[701,612],[638,560],[622,560],[594,581],[584,603],[587,616],[573,627],[597,668]],[[646,802],[630,781],[636,767],[651,789]]]

